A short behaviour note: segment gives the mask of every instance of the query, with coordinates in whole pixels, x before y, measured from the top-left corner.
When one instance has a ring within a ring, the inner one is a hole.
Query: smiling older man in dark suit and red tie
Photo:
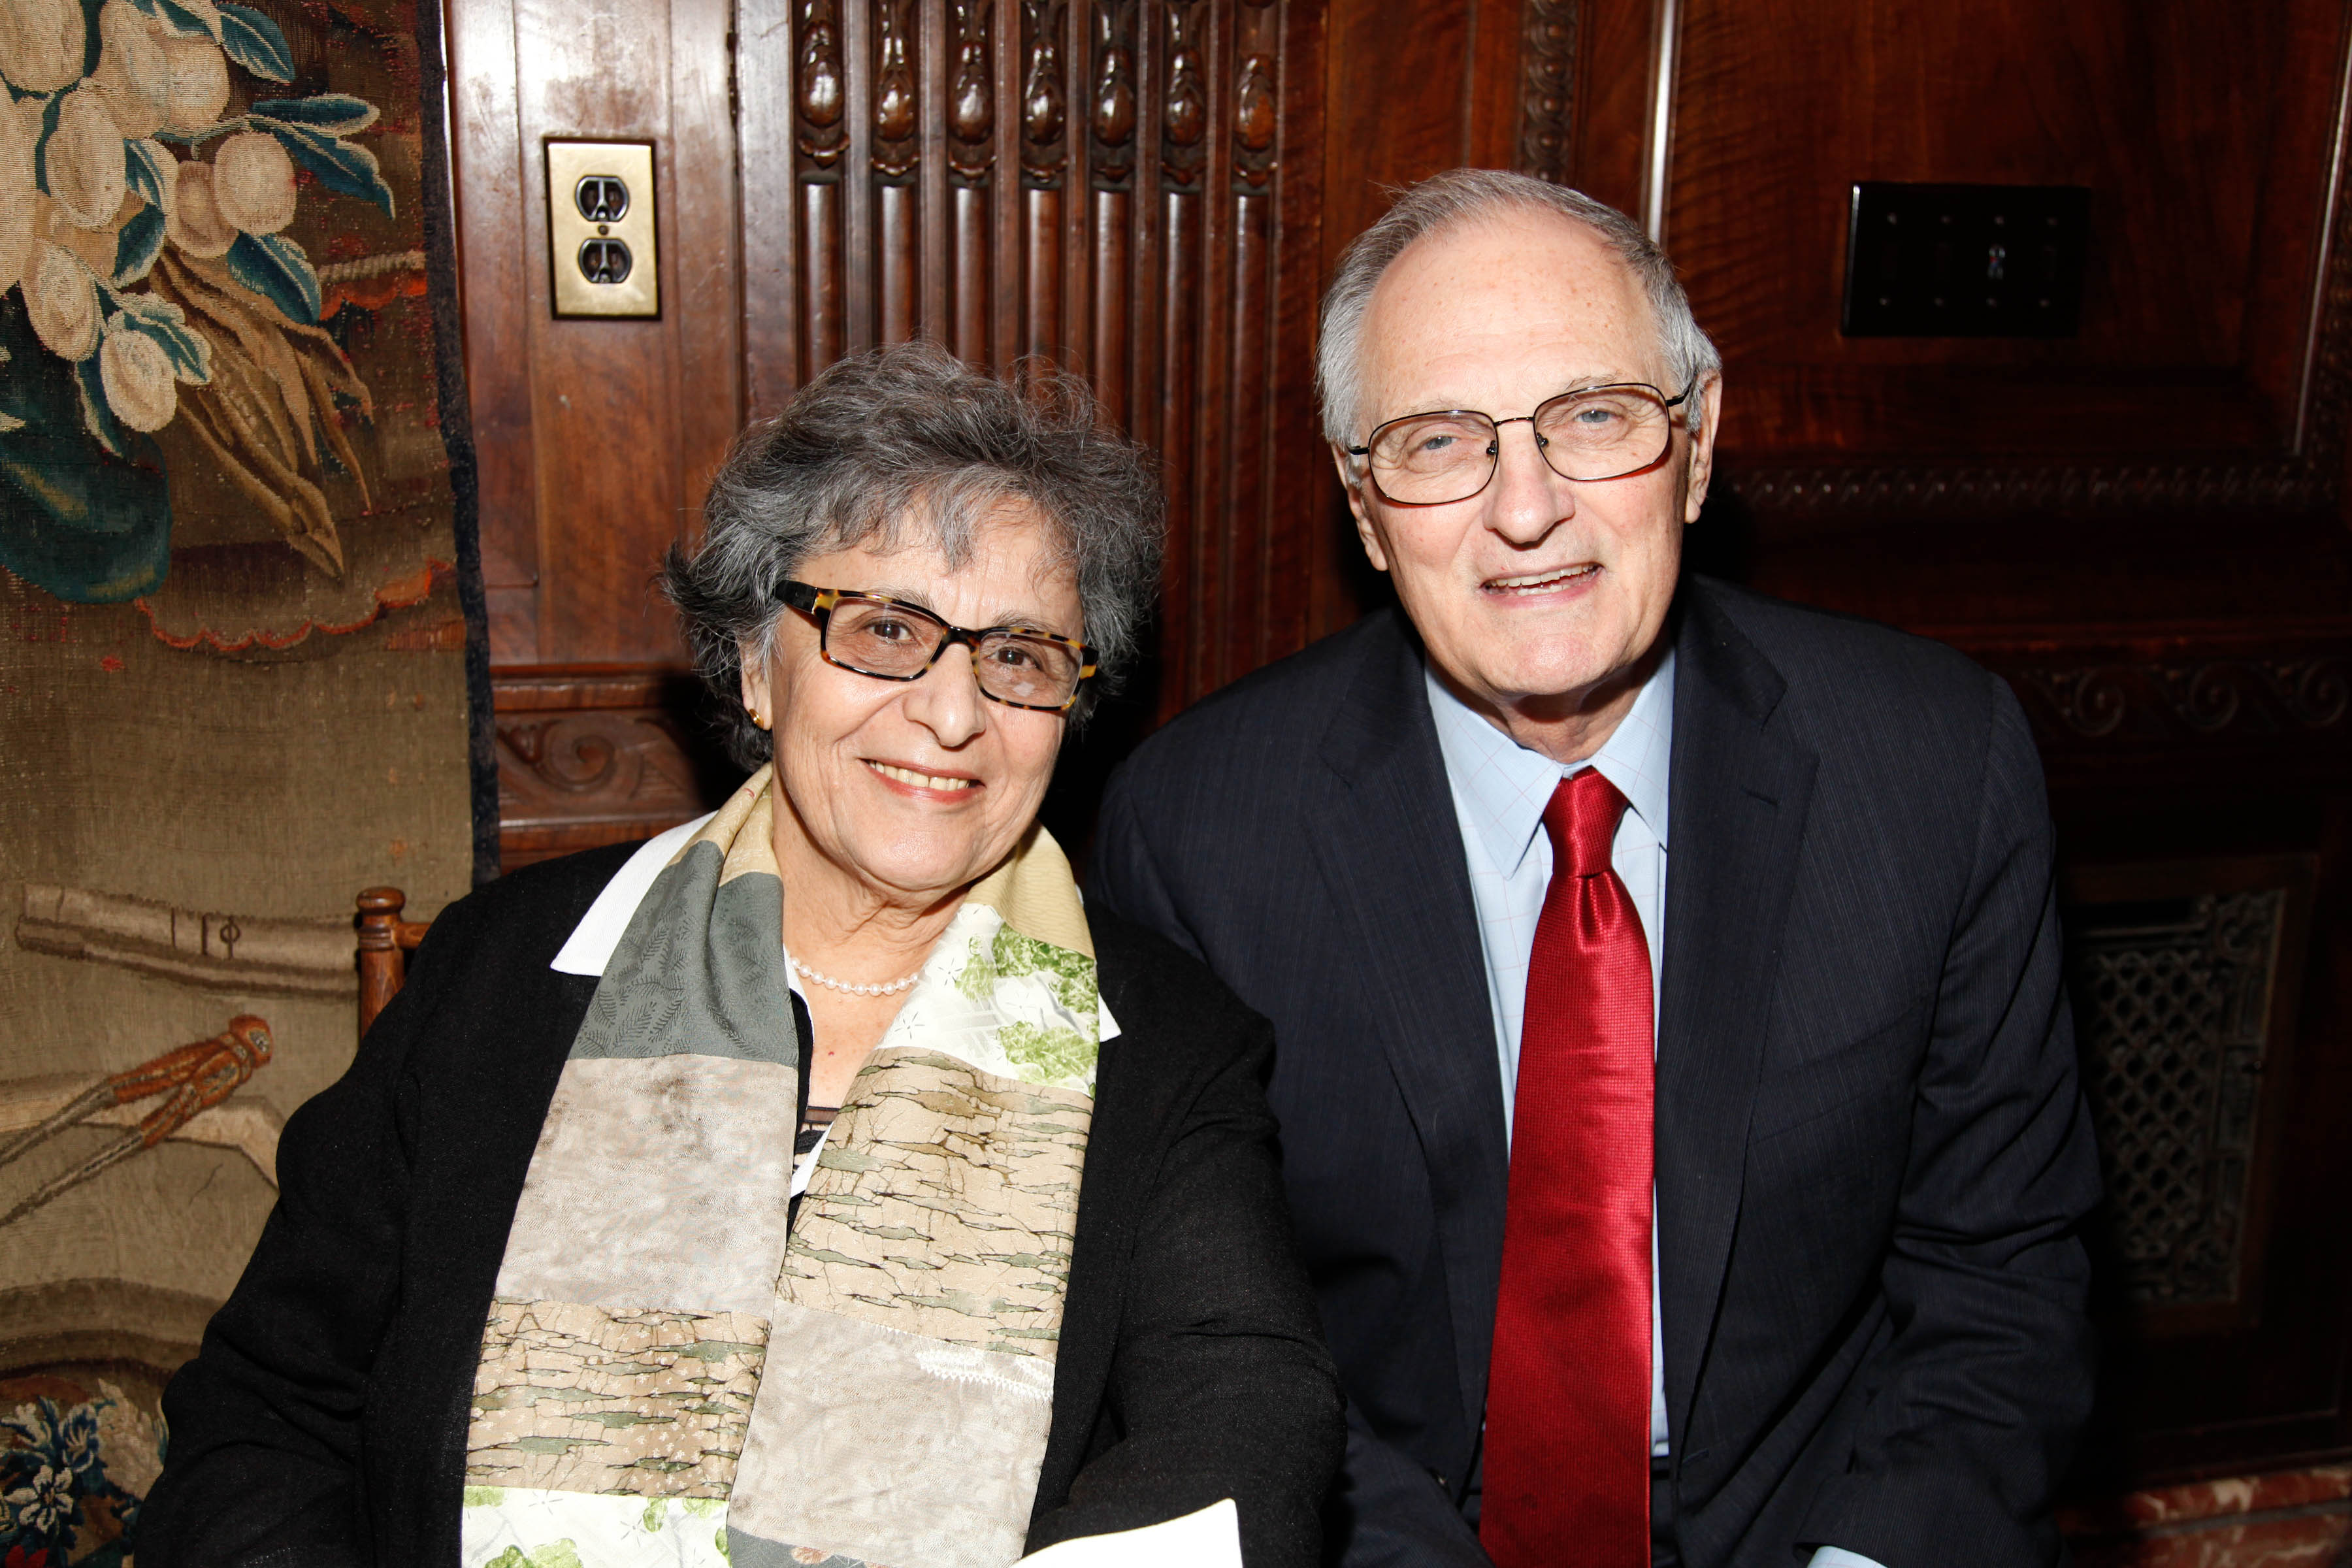
[[[1399,607],[1152,736],[1091,891],[1275,1020],[1334,1556],[2056,1561],[2098,1178],[2016,701],[1682,574],[1719,360],[1590,197],[1414,188],[1319,369]]]

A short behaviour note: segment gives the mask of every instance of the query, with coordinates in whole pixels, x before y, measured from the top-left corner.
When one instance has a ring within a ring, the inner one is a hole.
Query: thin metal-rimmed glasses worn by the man
[[[1378,425],[1348,456],[1367,458],[1374,494],[1392,505],[1468,501],[1494,482],[1503,425],[1534,425],[1536,451],[1562,480],[1630,480],[1675,449],[1675,409],[1698,390],[1698,376],[1668,397],[1642,381],[1585,386],[1536,404],[1534,414],[1494,418],[1475,409],[1406,414]]]

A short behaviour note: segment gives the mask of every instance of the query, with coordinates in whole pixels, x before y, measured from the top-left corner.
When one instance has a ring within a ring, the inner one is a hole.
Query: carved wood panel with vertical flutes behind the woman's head
[[[743,0],[743,386],[931,336],[1084,374],[1167,463],[1160,712],[1303,646],[1322,14]]]

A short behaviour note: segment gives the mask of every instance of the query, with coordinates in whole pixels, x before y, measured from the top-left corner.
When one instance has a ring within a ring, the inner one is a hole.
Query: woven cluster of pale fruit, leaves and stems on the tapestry
[[[5,0],[0,78],[0,564],[85,604],[155,590],[198,458],[341,581],[374,402],[322,324],[353,268],[287,230],[393,216],[376,108],[289,94],[285,31],[226,0]]]

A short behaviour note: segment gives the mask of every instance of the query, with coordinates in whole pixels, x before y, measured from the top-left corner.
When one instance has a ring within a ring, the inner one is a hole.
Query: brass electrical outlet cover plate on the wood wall
[[[661,315],[654,143],[548,143],[548,270],[555,315]]]

